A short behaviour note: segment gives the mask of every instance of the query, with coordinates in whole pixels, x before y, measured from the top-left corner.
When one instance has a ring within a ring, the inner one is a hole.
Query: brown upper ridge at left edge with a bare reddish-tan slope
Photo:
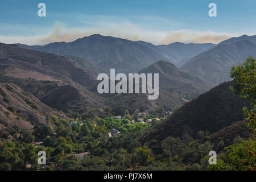
[[[14,46],[0,45],[2,74],[13,77],[31,77],[37,80],[75,81],[88,86],[96,80],[96,74],[82,67],[70,57],[33,51]]]

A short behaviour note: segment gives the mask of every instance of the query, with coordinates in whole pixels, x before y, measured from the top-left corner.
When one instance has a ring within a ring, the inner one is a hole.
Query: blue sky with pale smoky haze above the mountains
[[[46,3],[46,17],[38,4]],[[217,5],[209,17],[208,5]],[[102,34],[154,44],[218,43],[256,32],[255,0],[0,0],[0,42],[46,44]]]

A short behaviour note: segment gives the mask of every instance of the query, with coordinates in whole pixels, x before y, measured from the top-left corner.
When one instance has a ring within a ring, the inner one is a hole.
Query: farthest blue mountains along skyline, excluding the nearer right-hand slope
[[[92,61],[95,65],[109,72],[115,68],[116,72],[134,73],[158,60],[179,63],[180,60],[196,56],[197,54],[213,47],[214,44],[184,44],[172,43],[155,46],[142,41],[131,41],[112,36],[98,34],[90,35],[74,42],[56,42],[44,46],[27,46],[16,44],[26,49],[51,52],[57,55],[70,55],[81,57],[86,63]],[[85,63],[82,63],[85,65]]]

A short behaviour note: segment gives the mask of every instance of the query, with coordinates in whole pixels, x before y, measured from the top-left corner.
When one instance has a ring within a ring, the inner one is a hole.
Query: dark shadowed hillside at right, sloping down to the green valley
[[[230,85],[232,82],[224,82],[183,105],[141,140],[146,142],[155,138],[160,141],[169,136],[181,137],[183,133],[195,137],[200,130],[212,134],[241,121],[244,118],[242,107],[249,106],[250,101],[234,96]]]

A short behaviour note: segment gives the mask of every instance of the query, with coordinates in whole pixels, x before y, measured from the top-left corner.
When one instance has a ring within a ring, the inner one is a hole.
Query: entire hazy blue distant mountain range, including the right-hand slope
[[[69,55],[81,67],[90,71],[109,73],[111,68],[122,73],[140,72],[159,60],[175,64],[191,76],[199,77],[209,86],[230,80],[233,65],[246,57],[256,55],[256,35],[242,35],[218,44],[171,43],[158,45],[131,41],[112,36],[90,35],[74,42],[56,42],[45,46],[27,46],[26,49]]]

